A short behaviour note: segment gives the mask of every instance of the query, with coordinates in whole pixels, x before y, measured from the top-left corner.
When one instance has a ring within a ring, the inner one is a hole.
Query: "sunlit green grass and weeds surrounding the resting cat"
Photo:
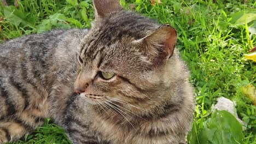
[[[256,2],[162,0],[153,7],[149,0],[121,0],[121,4],[160,23],[169,23],[178,31],[177,49],[191,70],[197,102],[188,141],[256,143],[256,106],[241,91],[243,86],[256,86],[256,64],[245,59],[256,46],[256,20],[248,16],[256,13]],[[240,18],[243,15],[246,19]],[[91,1],[26,0],[19,2],[18,8],[0,4],[0,43],[53,28],[89,28],[93,19]],[[246,130],[242,131],[241,124],[229,113],[212,112],[211,106],[219,97],[236,101],[238,117],[247,123]],[[63,130],[47,120],[44,127],[17,143],[70,142]]]

